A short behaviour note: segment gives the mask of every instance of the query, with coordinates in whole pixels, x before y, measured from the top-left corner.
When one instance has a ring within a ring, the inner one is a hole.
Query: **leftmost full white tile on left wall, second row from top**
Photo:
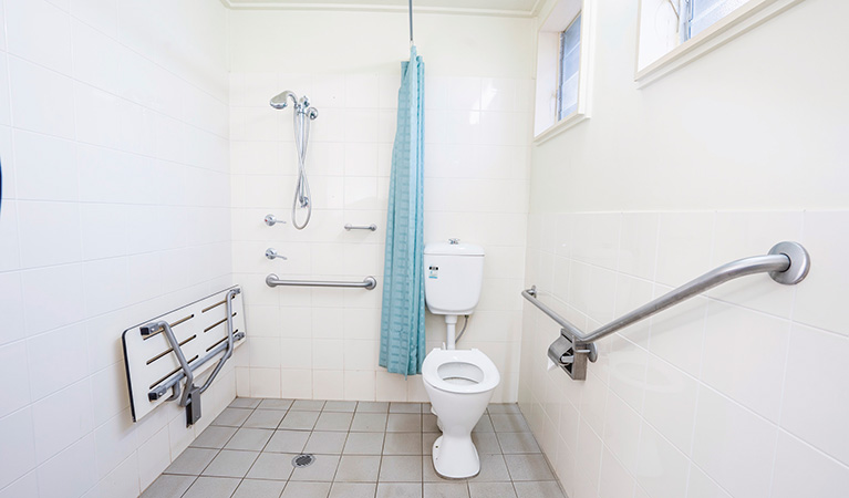
[[[10,58],[9,81],[15,127],[74,137],[74,106],[73,100],[68,97],[73,95],[70,77]]]

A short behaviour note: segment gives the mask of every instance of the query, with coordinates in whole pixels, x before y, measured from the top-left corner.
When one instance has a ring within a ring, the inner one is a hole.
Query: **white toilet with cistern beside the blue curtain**
[[[449,239],[427,243],[424,252],[425,302],[431,313],[445,317],[446,325],[443,347],[431,351],[422,365],[424,387],[443,433],[433,446],[433,465],[442,477],[465,479],[480,471],[472,429],[501,382],[486,354],[455,347],[457,318],[472,314],[480,299],[484,248]]]

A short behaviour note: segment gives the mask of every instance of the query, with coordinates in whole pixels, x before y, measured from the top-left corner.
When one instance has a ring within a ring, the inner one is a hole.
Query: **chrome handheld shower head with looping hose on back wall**
[[[310,121],[319,117],[319,111],[310,106],[310,98],[304,95],[300,100],[294,92],[289,90],[275,95],[269,104],[277,110],[283,110],[292,101],[294,107],[294,146],[298,153],[298,181],[294,187],[294,198],[292,199],[292,225],[302,230],[312,217],[312,203],[310,201],[310,184],[307,181],[307,144],[310,141]],[[298,208],[307,209],[307,219],[303,224],[298,222]]]

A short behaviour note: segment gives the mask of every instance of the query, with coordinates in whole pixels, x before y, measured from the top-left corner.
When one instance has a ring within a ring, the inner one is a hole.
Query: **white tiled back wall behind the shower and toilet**
[[[406,15],[382,12],[231,12],[234,271],[247,288],[252,339],[239,355],[239,395],[425,401],[420,376],[377,366],[381,286],[373,291],[269,289],[265,277],[382,283],[390,158]],[[480,305],[463,347],[498,365],[497,401],[516,401],[527,221],[532,83],[530,20],[421,14],[425,60],[425,240],[486,248]],[[289,219],[297,170],[290,110],[268,100],[308,94],[319,110],[307,169],[314,212]],[[346,222],[376,232],[346,232]],[[288,261],[268,261],[275,247]],[[428,315],[427,345],[445,338]],[[247,351],[249,349],[249,352]]]

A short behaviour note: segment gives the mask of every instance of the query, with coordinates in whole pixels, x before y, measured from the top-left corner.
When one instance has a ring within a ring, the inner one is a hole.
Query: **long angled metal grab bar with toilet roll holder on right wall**
[[[598,359],[594,341],[601,338],[741,277],[769,273],[776,282],[793,286],[801,282],[809,269],[810,256],[800,243],[779,242],[766,256],[753,256],[723,264],[589,333],[582,332],[542,303],[537,298],[536,286],[521,291],[521,295],[562,328],[560,336],[548,349],[548,357],[572,380],[582,381],[587,378],[587,361],[594,362]]]

